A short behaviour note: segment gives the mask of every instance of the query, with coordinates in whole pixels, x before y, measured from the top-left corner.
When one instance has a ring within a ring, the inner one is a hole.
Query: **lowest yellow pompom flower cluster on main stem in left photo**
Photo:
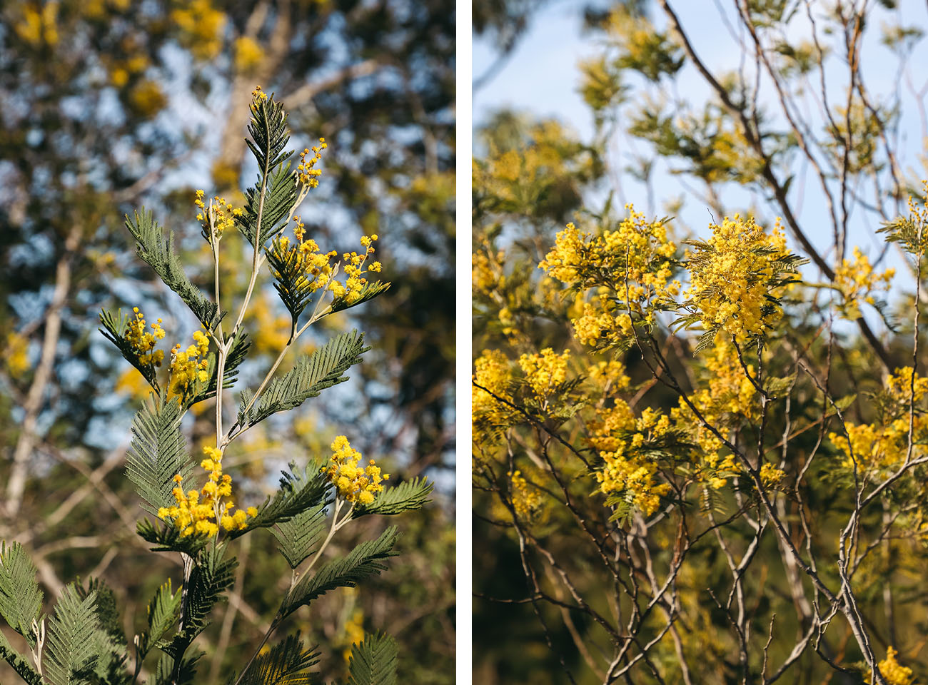
[[[158,517],[173,522],[181,537],[215,536],[219,534],[220,525],[227,531],[244,530],[248,527],[248,518],[256,516],[258,511],[254,507],[234,511],[235,505],[231,500],[223,501],[223,498],[232,496],[232,476],[223,473],[222,450],[204,446],[203,454],[206,459],[200,461],[200,467],[209,472],[209,480],[199,491],[185,493],[181,487],[183,479],[180,474],[175,475],[174,483],[177,485],[171,492],[176,504],[161,507]]]

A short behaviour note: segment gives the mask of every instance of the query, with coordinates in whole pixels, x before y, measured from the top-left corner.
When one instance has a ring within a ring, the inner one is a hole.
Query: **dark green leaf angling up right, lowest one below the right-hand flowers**
[[[369,575],[380,574],[386,566],[383,560],[396,556],[393,546],[399,537],[396,526],[387,528],[376,540],[367,540],[339,559],[327,562],[316,575],[303,578],[290,589],[280,606],[281,617],[286,617],[316,597],[335,588],[354,588]]]

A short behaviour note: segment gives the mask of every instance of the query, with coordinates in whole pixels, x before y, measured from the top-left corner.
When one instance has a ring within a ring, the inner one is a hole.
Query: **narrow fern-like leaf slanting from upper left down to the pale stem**
[[[213,330],[218,323],[219,307],[187,278],[184,265],[174,252],[174,232],[159,226],[152,213],[144,208],[142,213],[135,212],[134,219],[127,214],[125,226],[137,242],[135,251],[139,258],[154,269],[164,285],[180,296],[206,329]]]

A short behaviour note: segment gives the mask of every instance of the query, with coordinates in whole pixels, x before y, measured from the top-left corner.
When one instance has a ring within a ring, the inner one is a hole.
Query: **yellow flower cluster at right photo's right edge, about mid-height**
[[[881,472],[895,468],[905,459],[909,444],[909,404],[921,402],[928,392],[928,379],[918,374],[913,379],[912,374],[911,367],[896,368],[896,373],[886,379],[885,396],[889,402],[881,421],[860,425],[845,421],[846,435],[833,431],[828,434],[844,457],[845,469],[857,466],[858,472]],[[928,427],[928,416],[917,410],[913,422],[914,432],[921,433]],[[921,451],[919,447],[916,449]]]

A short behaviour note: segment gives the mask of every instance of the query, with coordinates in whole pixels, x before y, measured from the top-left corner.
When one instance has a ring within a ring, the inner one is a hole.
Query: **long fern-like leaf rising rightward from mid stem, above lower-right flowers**
[[[352,330],[326,342],[312,355],[301,357],[282,377],[271,381],[255,405],[238,409],[238,426],[251,427],[278,411],[299,407],[326,388],[347,381],[342,374],[361,361],[364,333]]]

